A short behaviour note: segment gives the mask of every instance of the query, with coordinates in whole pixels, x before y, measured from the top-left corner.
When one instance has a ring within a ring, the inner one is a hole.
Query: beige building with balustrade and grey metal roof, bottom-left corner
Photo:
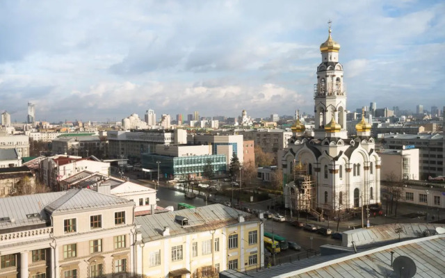
[[[88,189],[0,198],[0,277],[128,277],[133,202]]]

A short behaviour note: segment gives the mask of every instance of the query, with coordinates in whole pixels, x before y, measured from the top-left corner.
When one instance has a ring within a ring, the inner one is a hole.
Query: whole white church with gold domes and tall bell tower
[[[314,132],[307,133],[296,117],[282,157],[288,208],[333,213],[380,204],[380,158],[371,125],[362,117],[355,126],[356,136],[348,137],[346,131],[347,97],[339,50],[329,24],[314,85]]]

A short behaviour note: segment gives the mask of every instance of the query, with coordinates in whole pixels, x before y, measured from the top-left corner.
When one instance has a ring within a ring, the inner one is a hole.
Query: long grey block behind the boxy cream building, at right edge
[[[445,175],[444,135],[433,134],[384,134],[384,146],[389,149],[403,149],[403,146],[414,146],[419,149],[419,178]]]

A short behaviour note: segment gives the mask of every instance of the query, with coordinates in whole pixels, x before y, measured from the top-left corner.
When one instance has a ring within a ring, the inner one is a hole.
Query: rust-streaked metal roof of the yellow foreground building
[[[135,218],[135,222],[141,225],[139,230],[142,232],[143,241],[147,242],[163,238],[162,231],[164,227],[170,229],[170,236],[178,236],[236,224],[238,215],[243,215],[246,221],[248,221],[248,218],[254,218],[250,213],[238,211],[222,204],[212,204],[156,215],[139,216]],[[182,227],[179,222],[175,221],[176,216],[186,218],[188,225]],[[258,218],[254,219],[259,221]]]

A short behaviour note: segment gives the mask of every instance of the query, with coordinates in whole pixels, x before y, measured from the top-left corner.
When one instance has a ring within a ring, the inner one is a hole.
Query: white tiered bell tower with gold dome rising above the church
[[[346,131],[346,90],[343,83],[343,66],[339,63],[340,44],[332,40],[331,24],[327,40],[320,45],[321,64],[317,68],[314,85],[315,138],[327,136],[348,138]],[[331,123],[337,124],[332,134]],[[339,130],[338,130],[339,129]]]

